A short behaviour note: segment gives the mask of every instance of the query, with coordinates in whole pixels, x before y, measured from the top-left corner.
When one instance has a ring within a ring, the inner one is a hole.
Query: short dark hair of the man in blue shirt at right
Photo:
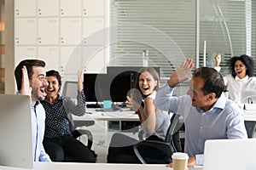
[[[193,77],[201,77],[205,80],[205,85],[201,89],[203,94],[216,94],[219,98],[224,91],[224,79],[221,74],[210,67],[200,67],[195,70]]]

